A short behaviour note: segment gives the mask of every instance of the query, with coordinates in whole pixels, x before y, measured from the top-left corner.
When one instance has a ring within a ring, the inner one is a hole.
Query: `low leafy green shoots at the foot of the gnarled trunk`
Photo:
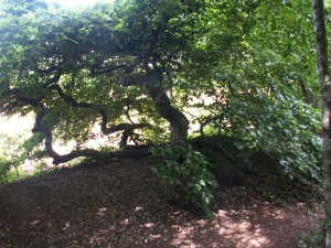
[[[218,185],[209,170],[211,164],[205,157],[191,147],[185,150],[167,144],[162,148],[153,148],[151,151],[153,157],[166,161],[166,164],[152,165],[152,171],[162,179],[163,183],[184,185],[185,198],[193,204],[201,204],[205,214],[212,218],[209,205],[213,195],[210,186]]]

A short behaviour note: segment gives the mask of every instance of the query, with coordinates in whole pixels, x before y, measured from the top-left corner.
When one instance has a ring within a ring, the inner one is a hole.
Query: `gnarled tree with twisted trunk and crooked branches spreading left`
[[[189,121],[172,106],[167,91],[185,43],[201,32],[196,25],[202,7],[202,2],[174,0],[115,1],[78,13],[52,6],[20,13],[4,8],[1,112],[34,111],[32,131],[44,134],[46,153],[54,163],[66,162],[96,151],[58,155],[52,148],[53,130],[61,130],[63,139],[79,140],[81,132],[100,118],[103,133],[124,130],[121,145],[126,145],[128,137],[135,140],[135,129],[151,128],[134,123],[129,116],[139,101],[150,110],[142,90],[131,89],[139,86],[169,121],[171,144],[188,147]],[[87,116],[90,120],[84,119]],[[130,122],[120,123],[122,116]],[[117,125],[107,127],[109,119]]]

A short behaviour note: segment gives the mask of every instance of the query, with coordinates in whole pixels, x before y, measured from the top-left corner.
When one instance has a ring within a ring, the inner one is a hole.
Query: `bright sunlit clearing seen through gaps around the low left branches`
[[[33,115],[29,114],[24,117],[20,115],[13,115],[12,117],[0,116],[0,152],[2,155],[4,152],[11,155],[11,158],[20,158],[22,151],[19,150],[19,145],[22,145],[24,141],[32,137],[32,128],[34,126]],[[118,145],[119,139],[116,137],[116,133],[104,136],[100,132],[99,123],[95,122],[92,127],[92,130],[88,134],[86,142],[81,144],[81,149],[95,149],[99,150],[100,148],[113,145],[116,148]],[[77,142],[74,140],[63,142],[60,139],[53,140],[53,149],[60,155],[68,154],[77,148]],[[40,150],[44,150],[44,141],[39,145]],[[4,151],[4,152],[3,152]],[[57,165],[53,164],[53,159],[45,157],[40,160],[35,159],[24,159],[19,161],[20,164],[17,164],[21,177],[32,175],[38,171],[49,171],[51,169],[67,166],[68,164],[75,164],[79,159],[74,159],[68,163],[60,163]]]

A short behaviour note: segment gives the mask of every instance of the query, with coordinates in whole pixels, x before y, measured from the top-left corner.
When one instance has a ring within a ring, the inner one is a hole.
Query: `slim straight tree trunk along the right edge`
[[[328,62],[328,39],[323,0],[312,0],[312,9],[317,43],[318,71],[322,93],[322,162],[324,204],[328,225],[325,247],[331,248],[331,77]]]

